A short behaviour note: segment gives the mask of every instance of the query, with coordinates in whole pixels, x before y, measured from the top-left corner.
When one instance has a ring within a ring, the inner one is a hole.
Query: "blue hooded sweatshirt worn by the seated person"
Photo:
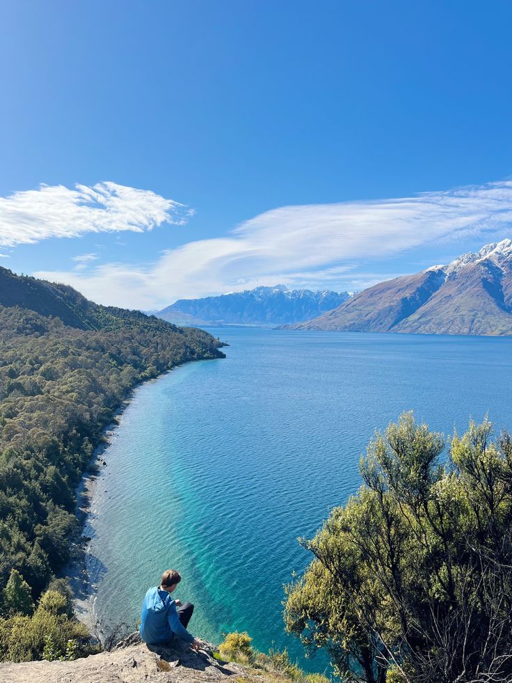
[[[159,590],[158,586],[150,588],[144,598],[141,613],[141,627],[138,629],[141,638],[148,645],[167,643],[173,636],[186,643],[192,643],[194,636],[179,621],[176,603],[170,593]]]

